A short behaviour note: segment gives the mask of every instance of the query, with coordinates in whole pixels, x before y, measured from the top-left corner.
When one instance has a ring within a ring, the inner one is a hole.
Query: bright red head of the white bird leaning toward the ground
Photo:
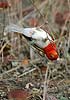
[[[44,53],[50,60],[57,60],[58,58],[58,53],[56,50],[56,45],[55,43],[49,43],[48,46],[43,48]]]

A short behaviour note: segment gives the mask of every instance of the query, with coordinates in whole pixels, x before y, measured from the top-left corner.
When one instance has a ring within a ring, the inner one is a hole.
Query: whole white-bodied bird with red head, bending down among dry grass
[[[10,24],[5,27],[4,35],[12,32],[19,33],[24,36],[32,46],[41,50],[49,60],[57,60],[58,52],[56,44],[49,33],[45,32],[42,28],[23,28],[15,24]]]

